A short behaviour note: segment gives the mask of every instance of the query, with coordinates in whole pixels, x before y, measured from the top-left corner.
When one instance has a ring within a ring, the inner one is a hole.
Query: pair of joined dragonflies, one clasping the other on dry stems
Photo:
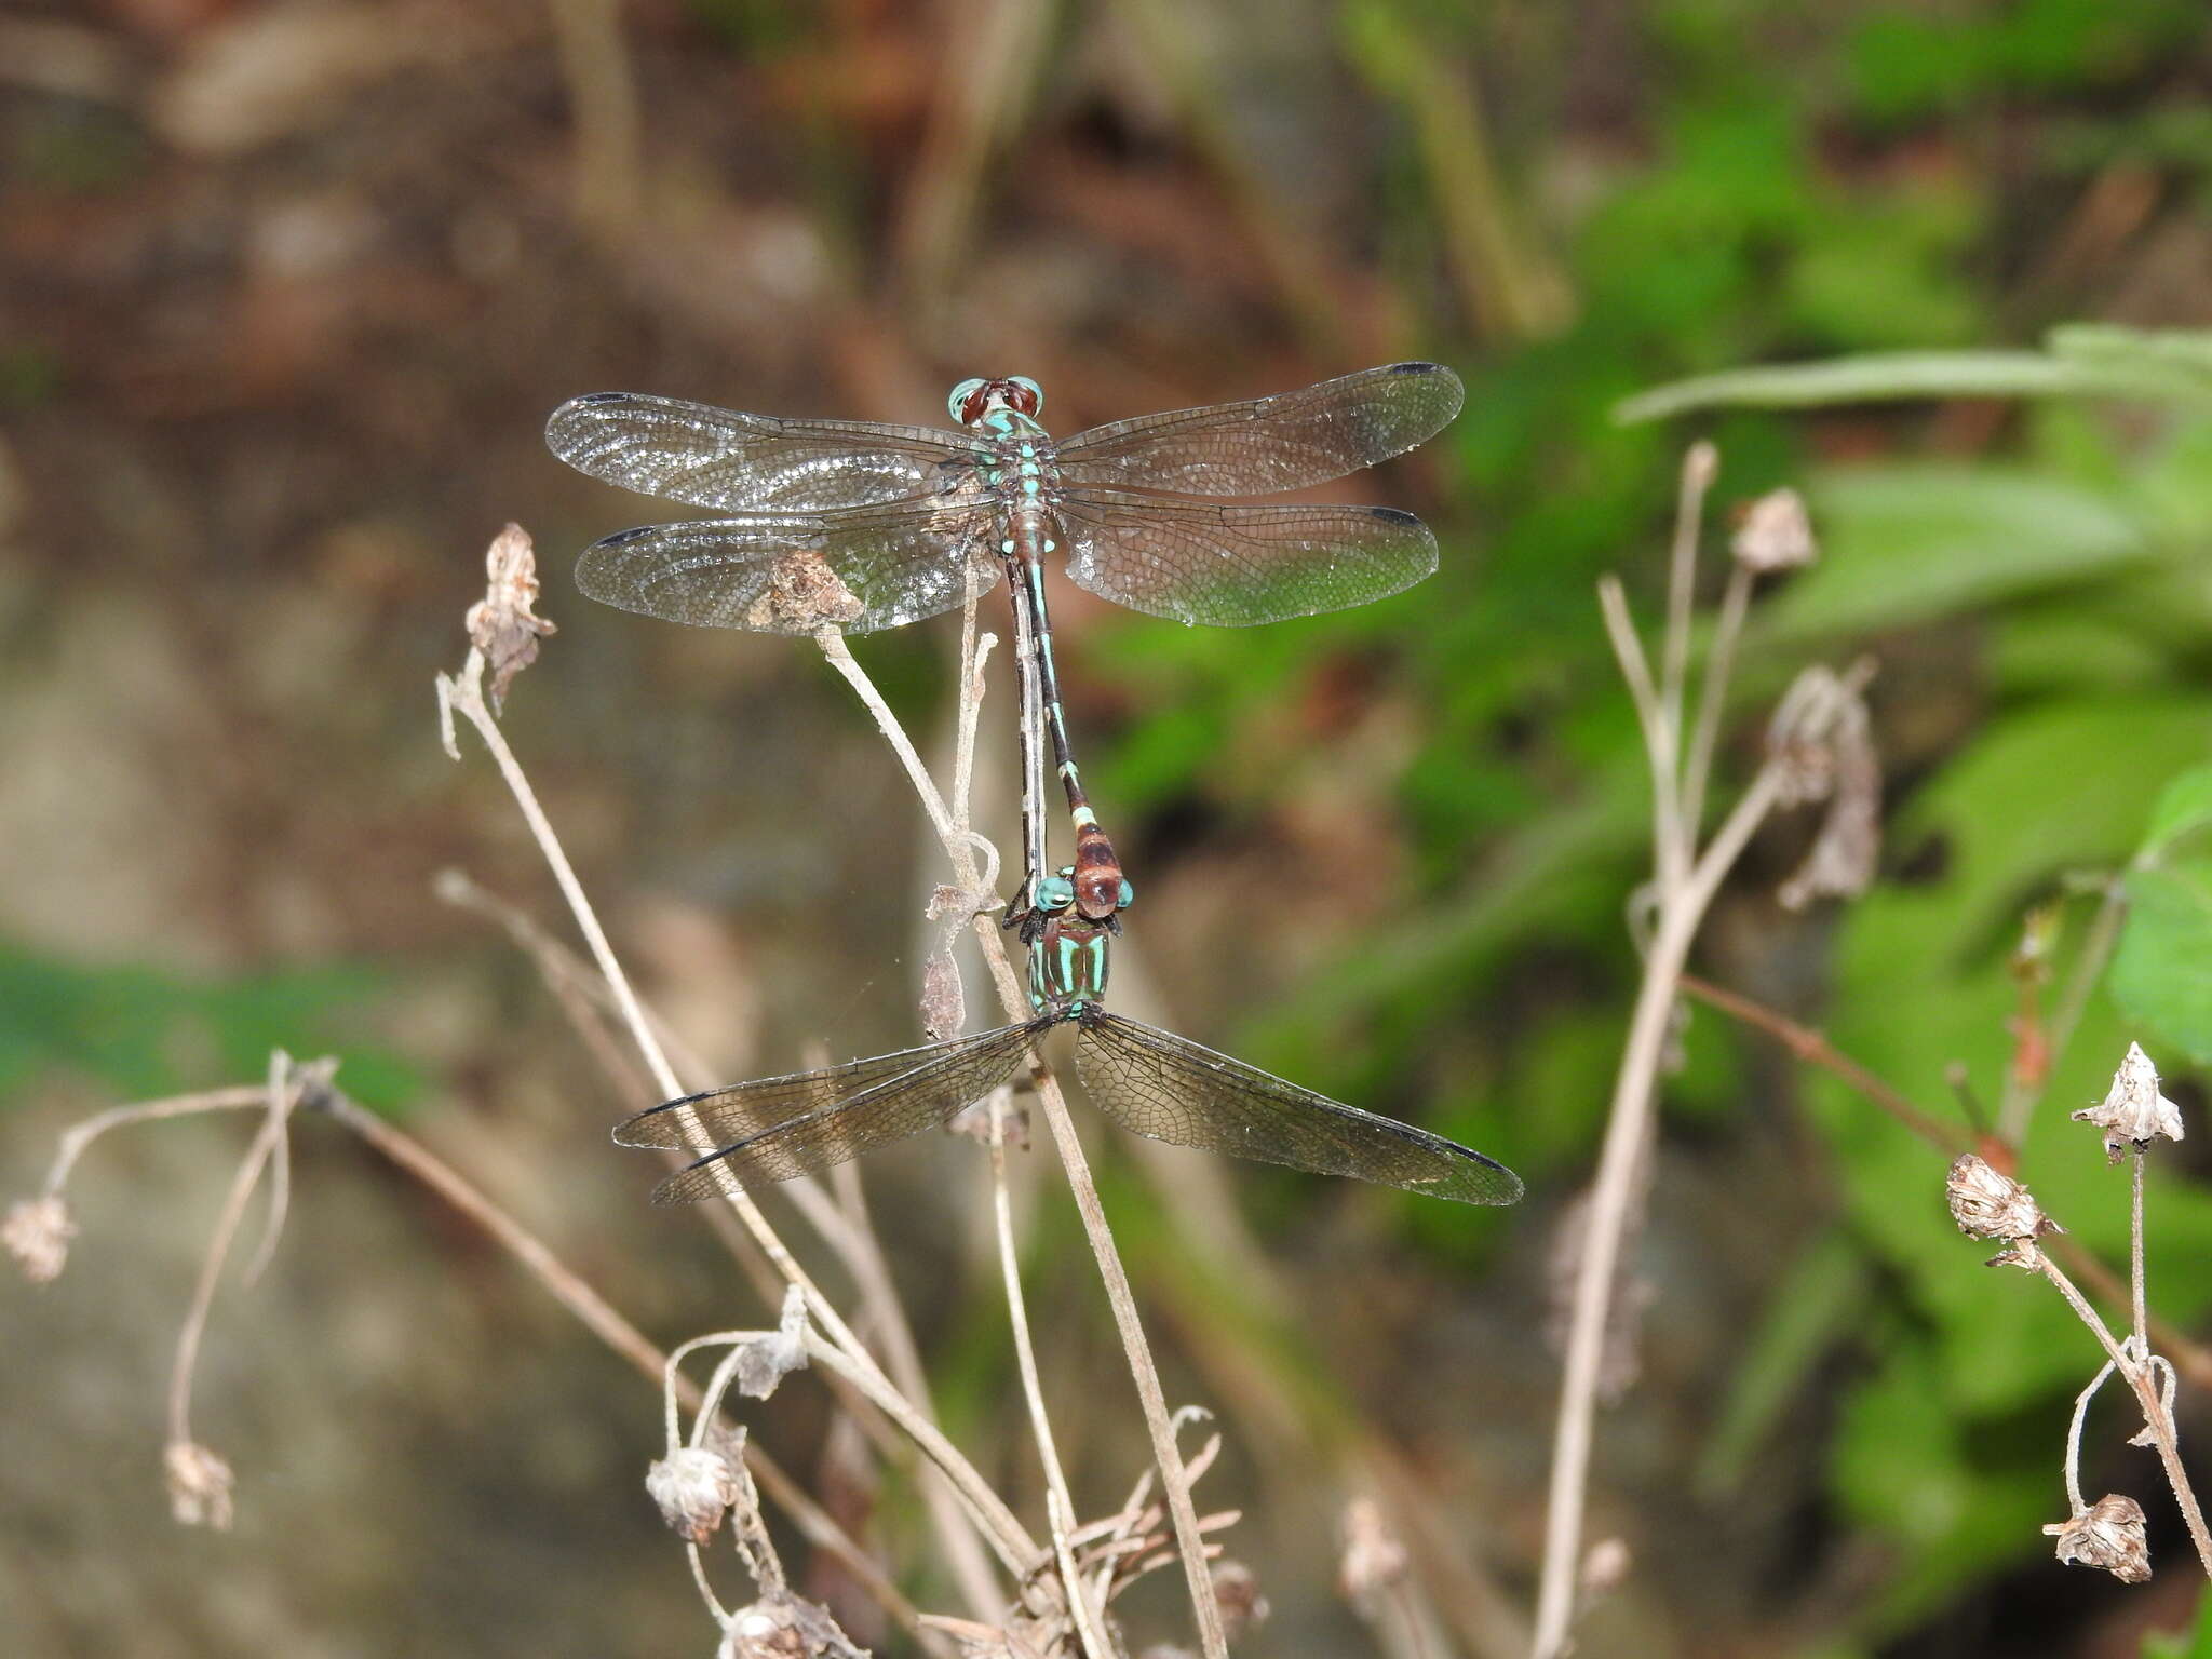
[[[1520,1179],[1440,1135],[1287,1084],[1172,1031],[1108,1013],[1110,940],[1133,889],[1068,743],[1044,564],[1130,611],[1250,626],[1367,604],[1436,568],[1436,538],[1391,507],[1248,504],[1402,453],[1460,411],[1460,380],[1394,363],[1252,403],[1117,420],[1055,442],[1026,376],[962,380],[962,431],[779,420],[635,392],[573,398],[546,422],[571,467],[717,518],[588,546],[577,586],[668,622],[754,633],[874,633],[1011,588],[1022,739],[1022,887],[1006,922],[1029,947],[1031,1020],[845,1066],[712,1088],[639,1113],[624,1146],[697,1150],[659,1186],[684,1203],[723,1172],[783,1181],[945,1124],[1013,1079],[1055,1026],[1124,1128],[1318,1175],[1513,1203]],[[1046,750],[1073,863],[1046,858]]]

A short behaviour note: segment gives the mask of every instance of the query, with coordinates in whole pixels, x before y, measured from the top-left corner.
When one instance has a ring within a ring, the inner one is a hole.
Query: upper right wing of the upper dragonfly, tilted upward
[[[1053,453],[1073,487],[1272,495],[1427,442],[1460,414],[1464,396],[1442,363],[1391,363],[1274,398],[1115,420]]]

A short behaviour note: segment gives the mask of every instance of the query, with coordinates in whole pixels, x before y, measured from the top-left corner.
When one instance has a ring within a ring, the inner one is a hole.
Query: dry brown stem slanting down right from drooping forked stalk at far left
[[[575,1314],[584,1329],[659,1385],[666,1356],[646,1338],[646,1334],[615,1312],[615,1307],[611,1307],[597,1290],[564,1265],[560,1256],[555,1256],[544,1241],[538,1239],[538,1234],[487,1199],[451,1164],[336,1091],[327,1095],[327,1115],[332,1121],[358,1135],[376,1152],[387,1157],[400,1170],[418,1179],[480,1225],[502,1250],[507,1250],[509,1256],[513,1256],[533,1279],[538,1279],[540,1285],[546,1287],[553,1301]],[[684,1389],[690,1391],[690,1385],[686,1383]],[[690,1402],[697,1405],[697,1394],[692,1394]],[[920,1632],[920,1615],[914,1604],[907,1601],[889,1577],[885,1577],[883,1568],[869,1559],[867,1551],[863,1551],[852,1535],[838,1526],[838,1522],[821,1504],[816,1504],[805,1489],[783,1471],[781,1464],[776,1464],[774,1458],[750,1440],[745,1442],[745,1467],[752,1471],[752,1478],[761,1482],[761,1491],[765,1491],[768,1498],[783,1509],[785,1515],[790,1515],[792,1524],[810,1544],[825,1555],[834,1555],[902,1628]]]

